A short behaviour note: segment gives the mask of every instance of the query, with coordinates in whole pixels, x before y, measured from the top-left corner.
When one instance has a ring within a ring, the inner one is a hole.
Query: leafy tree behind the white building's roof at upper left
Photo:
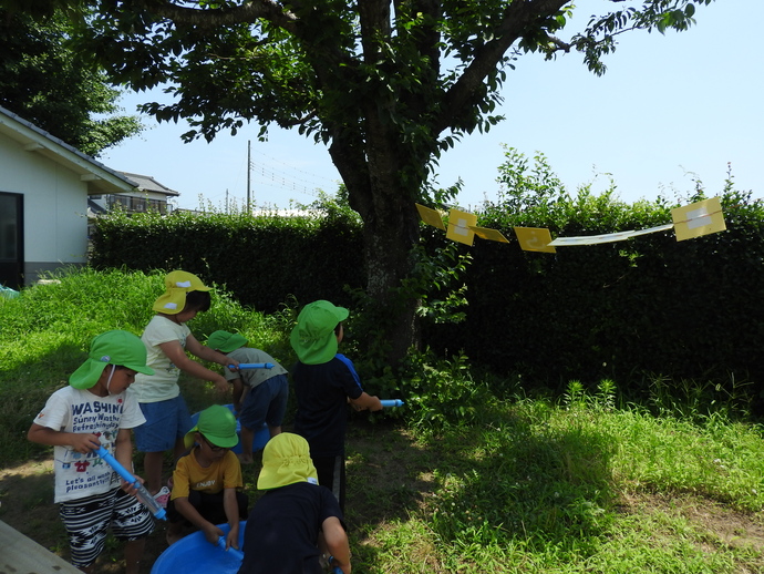
[[[120,91],[68,47],[70,30],[60,12],[35,21],[0,10],[0,105],[97,156],[143,126],[117,115]]]

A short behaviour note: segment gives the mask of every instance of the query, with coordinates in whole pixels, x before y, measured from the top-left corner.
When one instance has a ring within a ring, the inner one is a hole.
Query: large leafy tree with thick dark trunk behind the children
[[[19,7],[22,0],[2,0]],[[685,30],[712,0],[602,0],[601,17],[567,41],[570,0],[37,0],[80,6],[80,50],[136,90],[159,121],[187,119],[186,140],[245,122],[297,126],[327,145],[364,223],[368,295],[379,304],[390,357],[417,342],[417,301],[402,289],[416,268],[419,217],[440,154],[487,131],[520,55],[601,57],[630,30]],[[23,8],[20,8],[23,9]],[[608,10],[613,10],[608,12]],[[338,277],[341,281],[342,278]]]

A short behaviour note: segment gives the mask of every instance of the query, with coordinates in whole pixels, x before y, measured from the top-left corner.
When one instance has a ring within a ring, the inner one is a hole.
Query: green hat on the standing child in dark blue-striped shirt
[[[329,362],[337,355],[334,327],[349,314],[344,307],[335,307],[326,300],[306,305],[289,336],[298,359],[306,365]]]

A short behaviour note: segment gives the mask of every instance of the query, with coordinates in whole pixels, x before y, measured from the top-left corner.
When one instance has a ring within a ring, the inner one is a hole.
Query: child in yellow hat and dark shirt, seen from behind
[[[247,519],[238,574],[321,573],[321,557],[350,574],[350,545],[342,511],[318,484],[308,442],[282,432],[262,451],[258,490],[266,493]]]

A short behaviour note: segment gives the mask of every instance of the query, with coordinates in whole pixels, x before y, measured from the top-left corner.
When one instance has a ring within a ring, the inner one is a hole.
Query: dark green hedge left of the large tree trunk
[[[293,299],[349,305],[344,286],[364,285],[361,232],[342,211],[298,217],[116,213],[96,222],[91,265],[184,269],[264,312]]]

